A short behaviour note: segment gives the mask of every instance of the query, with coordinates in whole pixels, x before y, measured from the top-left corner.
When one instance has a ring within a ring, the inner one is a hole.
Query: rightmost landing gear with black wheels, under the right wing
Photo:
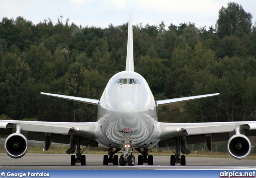
[[[183,140],[184,145],[181,142],[181,138],[177,137],[176,139],[176,150],[173,151],[173,153],[175,155],[171,156],[171,166],[175,166],[175,164],[180,164],[181,166],[186,166],[186,157],[185,155],[181,155],[180,156],[180,151],[182,151],[182,153],[188,155],[190,154],[190,151],[186,148],[186,138]],[[167,144],[166,144],[167,145]],[[167,145],[169,147],[169,145]],[[170,147],[169,147],[170,148]]]

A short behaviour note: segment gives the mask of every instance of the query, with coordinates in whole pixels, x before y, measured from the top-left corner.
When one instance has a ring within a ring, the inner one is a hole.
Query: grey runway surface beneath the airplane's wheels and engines
[[[118,155],[119,158],[120,155]],[[138,155],[135,155],[136,164]],[[86,155],[86,166],[70,166],[70,155],[67,154],[30,154],[19,159],[10,158],[0,153],[0,170],[241,170],[256,169],[256,160],[234,158],[186,157],[186,166],[170,166],[170,156],[154,156],[154,166],[103,166],[103,155]]]

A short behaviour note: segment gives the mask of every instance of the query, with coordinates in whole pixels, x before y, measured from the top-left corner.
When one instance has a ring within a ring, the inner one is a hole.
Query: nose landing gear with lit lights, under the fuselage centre
[[[130,150],[132,146],[132,140],[130,139],[124,139],[122,140],[122,146],[124,146],[124,150],[122,151],[124,155],[121,155],[119,158],[119,164],[120,166],[134,166],[135,165],[135,156],[132,155],[132,150]],[[131,153],[131,155],[129,155]]]

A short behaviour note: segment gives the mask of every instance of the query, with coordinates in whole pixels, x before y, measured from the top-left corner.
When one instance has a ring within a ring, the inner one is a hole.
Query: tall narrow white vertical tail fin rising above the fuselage
[[[127,56],[126,56],[126,71],[134,72],[133,63],[133,41],[132,41],[132,12],[130,12],[128,23],[128,40],[127,40]]]

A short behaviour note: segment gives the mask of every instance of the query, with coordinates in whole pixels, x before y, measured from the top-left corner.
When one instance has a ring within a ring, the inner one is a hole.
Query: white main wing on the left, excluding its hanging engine
[[[13,121],[0,120],[0,134],[10,135],[12,129],[16,130],[20,126],[21,131],[28,132],[28,140],[45,141],[45,135],[52,135],[52,142],[70,143],[70,135],[82,137],[82,145],[95,140],[94,129],[97,127],[96,122],[41,122],[41,121]],[[98,143],[90,146],[96,146]]]

